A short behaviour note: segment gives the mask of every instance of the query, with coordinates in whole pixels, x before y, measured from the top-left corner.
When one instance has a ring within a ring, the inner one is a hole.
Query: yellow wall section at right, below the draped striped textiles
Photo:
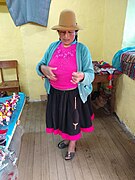
[[[116,114],[135,135],[135,81],[122,75],[117,83]]]

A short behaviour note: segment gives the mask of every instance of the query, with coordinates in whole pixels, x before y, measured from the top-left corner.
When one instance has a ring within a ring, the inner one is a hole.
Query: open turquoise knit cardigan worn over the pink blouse
[[[61,41],[53,42],[47,51],[45,52],[43,58],[36,66],[36,71],[39,76],[43,76],[40,71],[41,65],[48,65],[51,57],[55,51],[55,49],[59,46]],[[73,43],[77,43],[76,49],[76,59],[77,59],[77,69],[80,72],[84,73],[84,80],[78,83],[78,89],[80,98],[85,103],[87,101],[88,95],[92,92],[92,82],[94,80],[94,69],[92,64],[91,55],[89,49],[82,43],[74,41]],[[49,80],[45,79],[45,89],[47,94],[50,93],[50,83]]]

